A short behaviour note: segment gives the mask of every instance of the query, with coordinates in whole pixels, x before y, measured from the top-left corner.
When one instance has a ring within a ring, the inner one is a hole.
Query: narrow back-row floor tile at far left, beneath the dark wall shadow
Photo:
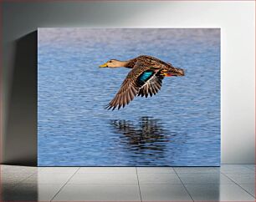
[[[0,165],[1,173],[36,173],[38,168],[32,166],[18,166],[18,165]]]

